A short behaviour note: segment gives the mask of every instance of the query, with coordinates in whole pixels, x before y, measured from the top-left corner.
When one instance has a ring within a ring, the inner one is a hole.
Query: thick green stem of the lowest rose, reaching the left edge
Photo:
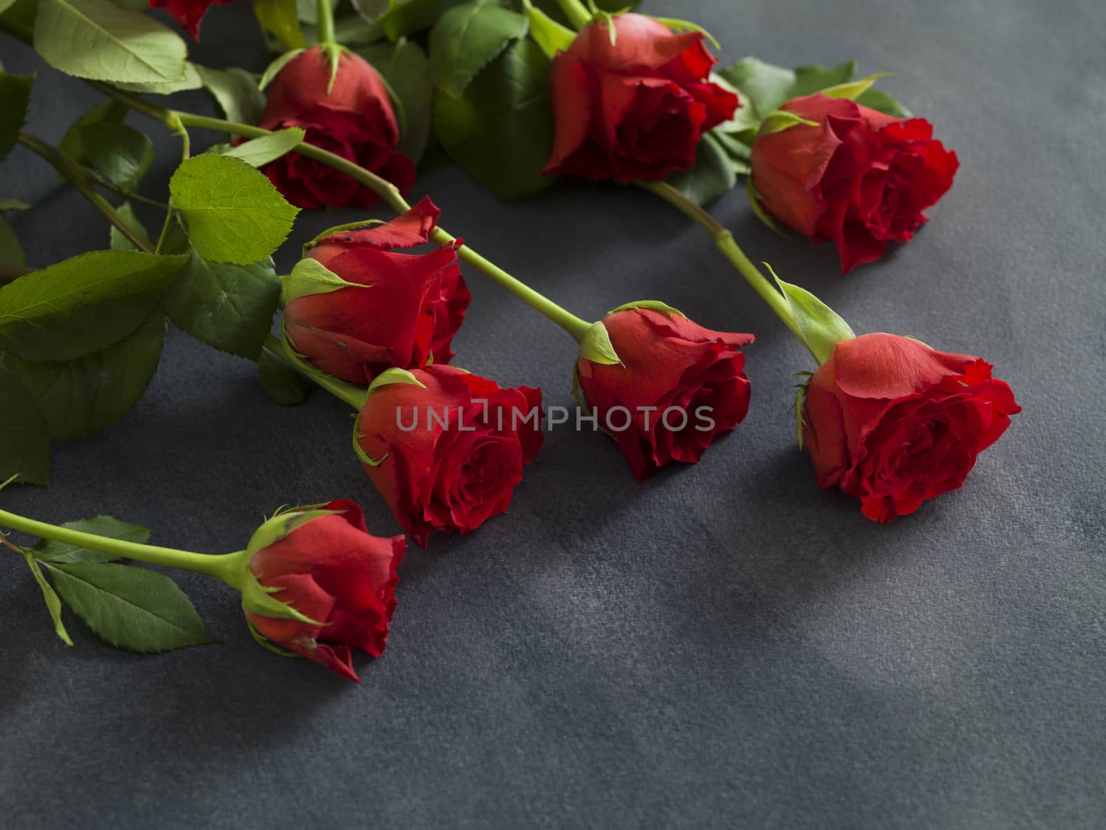
[[[75,544],[80,548],[98,550],[102,553],[118,557],[121,559],[136,559],[147,564],[159,564],[166,568],[179,568],[185,571],[204,573],[222,580],[228,585],[241,590],[244,583],[244,567],[242,562],[244,551],[237,553],[225,553],[222,556],[210,556],[208,553],[192,553],[188,550],[176,550],[174,548],[158,548],[153,544],[138,544],[127,542],[123,539],[109,539],[95,533],[85,533],[81,530],[60,528],[56,525],[48,525],[44,521],[27,519],[7,510],[0,510],[0,526],[19,530],[23,533],[38,536],[42,539],[53,539],[55,542]]]

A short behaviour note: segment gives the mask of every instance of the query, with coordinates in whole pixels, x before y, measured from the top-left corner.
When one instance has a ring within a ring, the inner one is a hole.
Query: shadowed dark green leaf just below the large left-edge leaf
[[[157,372],[165,317],[155,314],[117,343],[70,361],[33,363],[11,353],[0,366],[14,373],[38,403],[54,440],[103,429],[126,415]]]

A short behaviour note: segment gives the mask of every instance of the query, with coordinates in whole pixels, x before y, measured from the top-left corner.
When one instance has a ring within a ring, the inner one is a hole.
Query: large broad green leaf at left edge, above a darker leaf
[[[92,251],[20,277],[0,288],[0,349],[29,361],[105,349],[149,318],[186,259]]]

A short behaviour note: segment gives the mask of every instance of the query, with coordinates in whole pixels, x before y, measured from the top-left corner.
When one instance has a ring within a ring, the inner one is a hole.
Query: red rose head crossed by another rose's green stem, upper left
[[[400,190],[415,184],[415,164],[396,153],[399,128],[379,73],[364,58],[342,52],[331,84],[331,62],[320,46],[301,52],[280,71],[261,118],[265,129],[301,127],[306,138],[383,176]],[[332,167],[289,153],[262,172],[302,208],[367,208],[379,197]]]

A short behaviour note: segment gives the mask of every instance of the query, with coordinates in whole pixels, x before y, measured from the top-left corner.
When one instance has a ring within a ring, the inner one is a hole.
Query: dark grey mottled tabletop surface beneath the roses
[[[362,686],[262,651],[234,596],[187,574],[222,645],[136,656],[70,618],[66,649],[3,558],[4,827],[1106,826],[1106,14],[1091,0],[646,9],[693,17],[726,62],[897,72],[885,89],[962,163],[912,243],[842,278],[832,246],[773,236],[740,191],[713,212],[857,331],[985,356],[1024,413],[962,490],[869,522],[794,446],[790,373],[808,359],[698,228],[629,188],[507,205],[456,169],[431,175],[415,195],[432,193],[445,227],[585,317],[657,298],[757,332],[748,419],[645,486],[602,436],[550,435],[507,516],[408,554]],[[195,58],[259,68],[251,32],[247,4],[216,7]],[[0,56],[35,65],[9,39]],[[56,142],[96,100],[42,69],[31,128]],[[163,193],[177,146],[143,126]],[[106,243],[21,148],[0,196],[35,203],[15,219],[35,263]],[[304,216],[282,266],[334,221]],[[572,341],[468,279],[458,365],[568,404]],[[137,409],[58,447],[49,490],[0,500],[54,521],[112,513],[210,552],[242,547],[263,511],[330,497],[393,533],[349,426],[322,394],[269,403],[251,364],[174,333]]]

